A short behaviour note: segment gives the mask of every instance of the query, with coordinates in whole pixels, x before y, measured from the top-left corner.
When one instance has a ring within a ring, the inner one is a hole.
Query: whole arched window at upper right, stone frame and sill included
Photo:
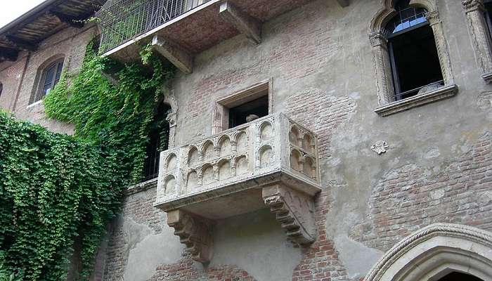
[[[370,27],[382,116],[450,98],[451,57],[435,1],[382,0]]]

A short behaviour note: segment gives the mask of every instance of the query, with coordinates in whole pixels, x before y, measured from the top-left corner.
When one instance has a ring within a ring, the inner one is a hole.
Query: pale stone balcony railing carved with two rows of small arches
[[[276,174],[309,194],[319,185],[316,135],[281,114],[164,151],[160,163],[155,205],[164,211],[266,185]]]

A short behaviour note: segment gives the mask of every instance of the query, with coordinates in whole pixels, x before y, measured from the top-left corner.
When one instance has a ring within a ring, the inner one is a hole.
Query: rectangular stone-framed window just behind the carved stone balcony
[[[271,80],[217,100],[212,133],[219,133],[272,113]],[[255,116],[256,115],[256,116]]]

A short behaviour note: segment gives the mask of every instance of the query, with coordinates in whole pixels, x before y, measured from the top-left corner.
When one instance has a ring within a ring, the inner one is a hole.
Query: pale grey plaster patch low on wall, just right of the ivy
[[[128,262],[124,280],[145,281],[152,277],[155,268],[161,264],[176,263],[181,259],[183,246],[171,228],[154,234],[145,224],[124,218],[123,232],[128,239]]]

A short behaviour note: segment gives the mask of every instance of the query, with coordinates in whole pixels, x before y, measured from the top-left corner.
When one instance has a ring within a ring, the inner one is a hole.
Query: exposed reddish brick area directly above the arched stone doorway
[[[417,164],[391,169],[373,188],[368,223],[352,237],[387,251],[431,223],[461,223],[492,230],[492,134],[439,174]]]

